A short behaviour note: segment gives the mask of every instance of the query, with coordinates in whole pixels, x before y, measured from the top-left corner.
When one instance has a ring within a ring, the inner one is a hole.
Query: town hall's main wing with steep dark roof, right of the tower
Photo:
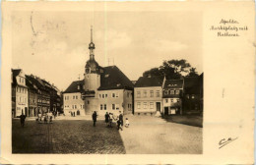
[[[133,83],[116,66],[103,68],[97,94],[99,115],[133,112]]]

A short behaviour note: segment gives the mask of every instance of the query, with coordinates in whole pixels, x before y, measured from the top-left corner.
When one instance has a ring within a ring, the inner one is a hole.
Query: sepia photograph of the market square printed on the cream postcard
[[[200,13],[18,11],[12,22],[13,153],[202,154]]]

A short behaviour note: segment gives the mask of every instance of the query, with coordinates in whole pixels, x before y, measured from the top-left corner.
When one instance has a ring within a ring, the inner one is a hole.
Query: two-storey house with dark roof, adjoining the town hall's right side
[[[134,113],[160,114],[164,77],[141,77],[134,87]]]

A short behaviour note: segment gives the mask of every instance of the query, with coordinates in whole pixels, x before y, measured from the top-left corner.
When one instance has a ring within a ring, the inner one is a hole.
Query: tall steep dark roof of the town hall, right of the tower
[[[117,68],[109,66],[103,68],[103,73],[100,75],[100,86],[98,90],[108,89],[132,89],[133,83]]]

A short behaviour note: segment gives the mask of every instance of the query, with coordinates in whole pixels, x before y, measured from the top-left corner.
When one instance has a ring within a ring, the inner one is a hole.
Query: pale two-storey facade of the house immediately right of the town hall
[[[156,113],[157,103],[160,103],[160,112],[162,112],[161,97],[161,86],[135,87],[134,113]]]

